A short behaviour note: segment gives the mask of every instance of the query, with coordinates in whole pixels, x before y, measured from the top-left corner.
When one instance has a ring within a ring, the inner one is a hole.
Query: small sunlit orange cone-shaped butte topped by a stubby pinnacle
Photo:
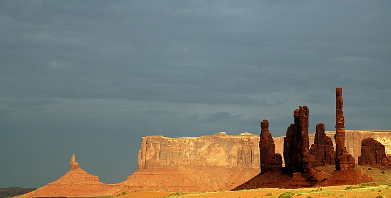
[[[116,186],[100,182],[98,176],[90,175],[79,168],[74,154],[70,161],[70,168],[71,170],[58,180],[24,194],[23,197],[86,197],[101,195],[104,191]]]

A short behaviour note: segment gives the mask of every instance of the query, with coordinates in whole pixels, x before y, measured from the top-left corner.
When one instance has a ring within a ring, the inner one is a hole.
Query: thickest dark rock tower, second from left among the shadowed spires
[[[286,130],[283,151],[286,173],[308,172],[310,169],[308,114],[307,106],[296,109],[293,112],[295,123]]]

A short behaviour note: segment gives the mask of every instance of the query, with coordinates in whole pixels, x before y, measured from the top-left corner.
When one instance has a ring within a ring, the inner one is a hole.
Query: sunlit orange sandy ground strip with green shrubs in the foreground
[[[358,185],[353,185],[358,186]],[[260,188],[254,190],[207,192],[207,193],[173,193],[173,192],[128,192],[118,198],[278,198],[282,193],[292,192],[293,198],[376,198],[383,195],[391,198],[391,187],[377,186],[345,190],[346,186],[329,186],[319,188],[279,189]],[[270,195],[271,193],[271,195]],[[269,195],[267,195],[269,194]]]

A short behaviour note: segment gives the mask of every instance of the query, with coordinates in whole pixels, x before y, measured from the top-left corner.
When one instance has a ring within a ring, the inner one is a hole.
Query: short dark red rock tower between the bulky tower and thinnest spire
[[[314,144],[311,145],[310,154],[315,156],[311,166],[335,165],[334,146],[331,137],[325,133],[325,125],[316,125]]]

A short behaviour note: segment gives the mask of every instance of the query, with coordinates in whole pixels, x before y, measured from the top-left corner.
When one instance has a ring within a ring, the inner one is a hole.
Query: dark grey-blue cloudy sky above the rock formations
[[[41,187],[72,154],[105,183],[141,138],[391,129],[389,0],[1,0],[0,187]]]

